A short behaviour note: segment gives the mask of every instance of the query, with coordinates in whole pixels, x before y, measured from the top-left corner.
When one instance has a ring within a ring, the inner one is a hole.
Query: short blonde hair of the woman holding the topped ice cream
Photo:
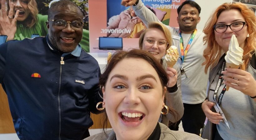
[[[148,32],[152,28],[156,28],[156,29],[163,31],[163,33],[165,34],[165,37],[167,39],[167,42],[169,43],[168,46],[166,47],[166,50],[169,49],[169,47],[172,45],[170,30],[168,30],[168,28],[165,27],[164,24],[159,23],[159,22],[150,22],[148,24],[148,28],[141,33],[140,39],[139,39],[139,48],[142,49],[144,36],[145,36],[146,32]]]

